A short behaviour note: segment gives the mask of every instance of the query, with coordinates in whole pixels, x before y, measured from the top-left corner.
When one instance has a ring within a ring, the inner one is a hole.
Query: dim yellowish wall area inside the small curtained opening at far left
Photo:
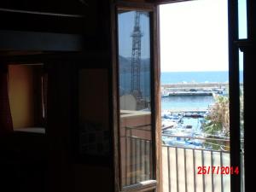
[[[9,102],[14,129],[34,125],[33,70],[31,66],[9,66]]]

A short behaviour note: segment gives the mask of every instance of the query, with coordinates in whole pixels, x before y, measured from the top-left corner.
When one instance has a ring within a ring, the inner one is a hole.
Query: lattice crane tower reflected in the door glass
[[[140,12],[135,13],[134,28],[131,33],[132,52],[131,52],[131,94],[137,99],[142,98],[140,86],[140,71],[141,71],[141,41],[143,33],[140,26]]]

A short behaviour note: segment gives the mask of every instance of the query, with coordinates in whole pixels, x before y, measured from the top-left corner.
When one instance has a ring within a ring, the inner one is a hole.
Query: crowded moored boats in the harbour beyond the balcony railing
[[[168,146],[203,148],[204,133],[201,124],[207,109],[162,111],[162,141]]]

